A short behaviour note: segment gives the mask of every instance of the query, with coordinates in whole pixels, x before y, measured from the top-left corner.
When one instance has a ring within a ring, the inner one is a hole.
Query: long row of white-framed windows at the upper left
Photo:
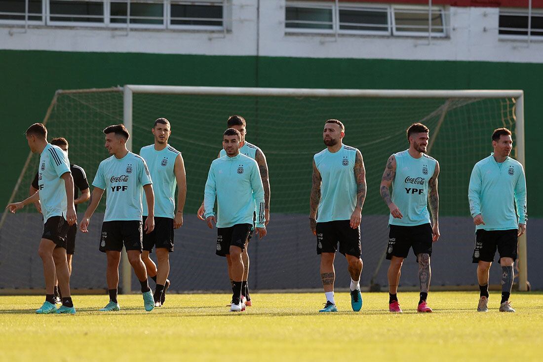
[[[226,0],[0,0],[0,24],[224,30]],[[127,24],[128,23],[128,24]]]

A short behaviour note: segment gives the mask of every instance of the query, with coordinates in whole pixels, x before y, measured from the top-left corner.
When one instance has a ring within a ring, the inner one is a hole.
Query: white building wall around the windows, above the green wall
[[[260,3],[260,21],[257,8]],[[0,26],[0,49],[67,52],[262,55],[304,58],[363,58],[543,62],[543,41],[500,39],[498,8],[448,8],[449,37],[285,34],[285,0],[232,0],[226,34],[211,31],[30,27],[9,34]],[[260,34],[257,45],[257,34]]]

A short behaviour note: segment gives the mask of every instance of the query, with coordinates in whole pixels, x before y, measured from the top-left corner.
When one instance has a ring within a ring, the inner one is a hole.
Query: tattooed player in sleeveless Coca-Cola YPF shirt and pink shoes
[[[420,299],[417,312],[432,312],[426,303],[430,290],[432,243],[439,239],[439,163],[426,155],[430,130],[421,123],[407,129],[409,149],[388,158],[381,180],[381,196],[390,209],[387,259],[389,310],[402,313],[397,289],[403,259],[413,248],[419,263]],[[392,198],[390,185],[393,185]],[[432,224],[430,213],[432,212]]]

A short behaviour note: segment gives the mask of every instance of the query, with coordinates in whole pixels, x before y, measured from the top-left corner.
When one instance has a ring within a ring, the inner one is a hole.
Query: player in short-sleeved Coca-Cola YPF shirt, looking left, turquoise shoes
[[[127,149],[130,135],[122,124],[111,125],[104,129],[105,148],[111,157],[100,162],[92,186],[89,207],[85,211],[79,225],[82,232],[89,232],[90,219],[98,206],[104,190],[108,189],[104,223],[100,234],[99,250],[106,253],[108,266],[109,303],[103,312],[119,310],[117,302],[117,287],[119,284],[119,262],[123,244],[127,250],[128,261],[141,284],[143,304],[150,312],[155,307],[155,301],[149,283],[147,270],[141,260],[142,253],[142,187],[147,200],[148,216],[143,230],[151,233],[155,227],[154,194],[151,176],[146,162],[140,156]]]

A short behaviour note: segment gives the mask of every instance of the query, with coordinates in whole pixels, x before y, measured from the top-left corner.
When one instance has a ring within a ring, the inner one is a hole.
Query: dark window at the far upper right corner
[[[532,10],[531,20],[528,24],[527,9],[500,9],[498,34],[525,39],[529,28],[531,36],[543,36],[543,11]]]

